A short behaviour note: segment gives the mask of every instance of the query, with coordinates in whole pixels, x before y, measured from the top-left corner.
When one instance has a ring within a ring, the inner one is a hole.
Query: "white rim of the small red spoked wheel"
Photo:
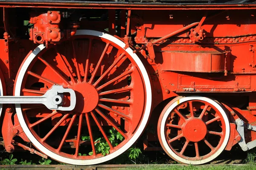
[[[224,136],[224,140],[222,142],[221,147],[211,156],[209,156],[206,159],[203,160],[198,160],[198,161],[191,161],[191,160],[187,160],[187,159],[183,159],[180,156],[177,156],[175,152],[172,151],[172,149],[169,147],[169,144],[166,141],[166,137],[165,137],[165,123],[166,123],[166,119],[169,116],[169,113],[180,103],[189,101],[189,100],[201,100],[204,102],[209,102],[210,104],[212,104],[216,109],[218,109],[218,111],[221,113],[221,115],[223,116],[224,122],[225,122],[225,126],[226,126],[226,135]],[[161,120],[160,123],[160,140],[162,141],[163,145],[162,147],[164,147],[166,149],[166,151],[177,161],[183,162],[185,164],[205,164],[209,161],[212,161],[213,159],[215,159],[218,155],[221,154],[221,152],[225,149],[225,147],[227,146],[227,142],[229,140],[229,136],[230,136],[230,125],[229,125],[229,120],[227,118],[227,115],[224,111],[224,109],[221,107],[221,105],[219,105],[217,102],[215,102],[212,99],[209,99],[207,97],[202,97],[202,96],[189,96],[189,97],[183,97],[183,98],[179,98],[176,101],[171,101],[172,105],[169,106],[169,108],[164,108],[164,110],[166,110],[166,112],[164,112],[164,116],[163,119]]]

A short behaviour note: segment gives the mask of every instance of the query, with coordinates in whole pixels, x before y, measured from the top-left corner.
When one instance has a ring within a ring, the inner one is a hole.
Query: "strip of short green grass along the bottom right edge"
[[[146,165],[143,167],[128,168],[129,170],[256,170],[256,164],[242,164],[242,165]],[[127,168],[120,168],[119,170],[127,170]]]

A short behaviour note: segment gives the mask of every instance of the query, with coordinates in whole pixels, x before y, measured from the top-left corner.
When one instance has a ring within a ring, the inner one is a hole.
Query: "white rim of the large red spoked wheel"
[[[93,30],[77,30],[76,35],[92,35],[96,37],[101,37],[107,40],[110,40],[114,42],[116,45],[119,45],[120,47],[124,48],[125,43],[122,42],[121,40],[117,39],[116,37],[113,37],[109,34],[105,34],[103,32],[99,31],[93,31]],[[21,90],[21,85],[23,81],[23,77],[26,73],[26,70],[32,60],[37,56],[37,54],[44,49],[44,45],[38,45],[37,48],[27,57],[26,61],[23,63],[22,68],[20,68],[20,72],[18,74],[17,80],[16,80],[16,86],[15,86],[15,96],[20,96],[20,90]],[[20,125],[23,128],[23,131],[26,133],[26,136],[29,138],[29,140],[35,145],[35,147],[38,148],[38,150],[41,150],[41,152],[45,153],[47,156],[51,157],[52,159],[67,163],[67,164],[76,164],[76,165],[91,165],[91,164],[99,164],[105,161],[109,161],[116,156],[119,156],[125,150],[127,150],[129,147],[131,147],[134,142],[140,137],[141,133],[143,132],[147,122],[148,122],[148,117],[151,111],[151,84],[150,80],[147,74],[147,71],[143,65],[143,63],[140,61],[139,57],[133,53],[131,48],[127,48],[125,50],[136,62],[138,68],[140,69],[141,74],[143,75],[143,80],[145,82],[145,91],[146,91],[146,104],[145,104],[145,112],[143,115],[143,119],[140,123],[140,126],[138,127],[137,131],[134,133],[134,135],[131,137],[131,139],[124,144],[123,147],[121,147],[119,150],[116,150],[115,152],[103,156],[101,158],[96,158],[96,159],[90,159],[90,160],[78,160],[78,159],[70,159],[66,158],[63,156],[60,156],[56,153],[53,153],[52,151],[48,150],[46,147],[44,147],[38,140],[32,135],[30,132],[29,128],[26,125],[25,119],[23,117],[20,104],[16,104],[16,112],[17,112],[17,117],[19,119]]]

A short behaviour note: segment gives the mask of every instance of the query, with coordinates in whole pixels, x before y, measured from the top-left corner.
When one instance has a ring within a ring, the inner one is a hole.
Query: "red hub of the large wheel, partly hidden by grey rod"
[[[71,87],[76,93],[76,107],[74,111],[88,113],[92,111],[99,102],[99,94],[89,83],[79,83]]]

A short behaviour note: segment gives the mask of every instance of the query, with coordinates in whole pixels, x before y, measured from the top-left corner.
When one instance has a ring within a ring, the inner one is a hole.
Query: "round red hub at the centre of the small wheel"
[[[205,123],[198,118],[188,120],[183,128],[184,136],[191,142],[201,141],[204,139],[207,133],[207,127]]]

